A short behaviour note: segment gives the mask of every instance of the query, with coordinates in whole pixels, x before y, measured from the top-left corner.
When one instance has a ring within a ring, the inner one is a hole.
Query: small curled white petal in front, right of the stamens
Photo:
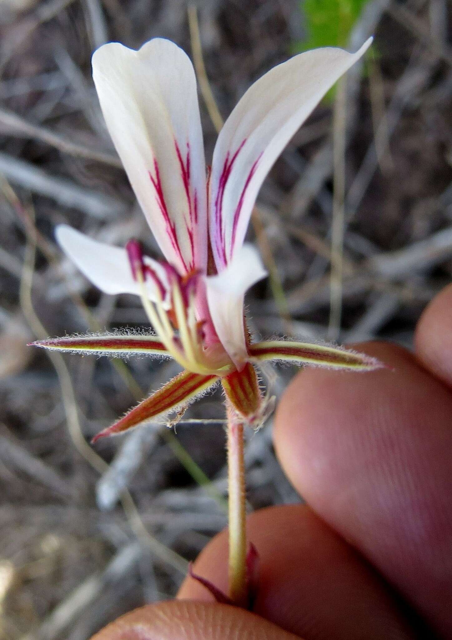
[[[265,276],[267,271],[258,251],[252,244],[244,244],[226,269],[205,278],[215,331],[238,369],[243,367],[248,357],[244,326],[245,291]]]

